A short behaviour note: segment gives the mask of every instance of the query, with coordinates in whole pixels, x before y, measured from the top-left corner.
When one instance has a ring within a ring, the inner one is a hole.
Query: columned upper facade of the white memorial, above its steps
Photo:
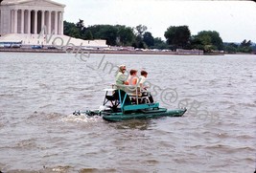
[[[0,34],[63,34],[65,5],[51,0],[3,0],[0,5]]]

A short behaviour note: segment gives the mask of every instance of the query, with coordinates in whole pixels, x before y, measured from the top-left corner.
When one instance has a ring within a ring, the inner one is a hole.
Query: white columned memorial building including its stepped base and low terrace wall
[[[0,42],[51,45],[51,39],[85,47],[107,47],[105,40],[81,40],[63,34],[65,5],[51,0],[0,0]],[[43,32],[41,32],[43,29]]]

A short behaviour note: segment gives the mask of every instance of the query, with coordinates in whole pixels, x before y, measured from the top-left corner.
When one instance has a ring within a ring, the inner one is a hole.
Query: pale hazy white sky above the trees
[[[170,26],[189,26],[192,34],[217,31],[224,42],[256,42],[256,3],[252,1],[55,0],[65,4],[64,19],[85,26],[139,24],[164,38]]]

